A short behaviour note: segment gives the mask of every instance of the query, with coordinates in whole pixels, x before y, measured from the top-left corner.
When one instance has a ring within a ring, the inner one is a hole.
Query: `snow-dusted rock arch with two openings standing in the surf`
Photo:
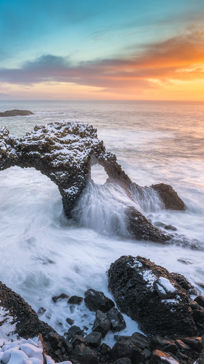
[[[75,214],[73,211],[86,186],[89,183],[94,185],[91,182],[91,166],[98,163],[108,175],[106,185],[113,188],[119,186],[130,200],[122,201],[122,211],[126,218],[123,225],[127,228],[127,234],[136,239],[160,243],[170,240],[171,234],[153,226],[136,208],[135,201],[144,200],[145,210],[144,196],[150,195],[154,196],[149,199],[153,205],[160,204],[160,207],[164,207],[158,193],[152,187],[140,187],[132,183],[118,165],[116,156],[106,151],[103,141],[99,141],[96,133],[97,130],[90,124],[70,121],[35,126],[23,138],[17,138],[5,127],[1,127],[0,170],[11,166],[34,167],[40,170],[56,183],[62,196],[64,213],[66,217],[73,218],[77,214],[76,210]],[[168,187],[167,199],[173,201],[176,193],[171,186]],[[177,194],[176,196],[178,197]],[[118,225],[121,225],[120,220]]]

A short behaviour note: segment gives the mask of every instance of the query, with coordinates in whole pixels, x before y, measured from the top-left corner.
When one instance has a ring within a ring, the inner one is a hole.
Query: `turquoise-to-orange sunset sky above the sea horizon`
[[[204,100],[203,0],[0,0],[0,100]]]

